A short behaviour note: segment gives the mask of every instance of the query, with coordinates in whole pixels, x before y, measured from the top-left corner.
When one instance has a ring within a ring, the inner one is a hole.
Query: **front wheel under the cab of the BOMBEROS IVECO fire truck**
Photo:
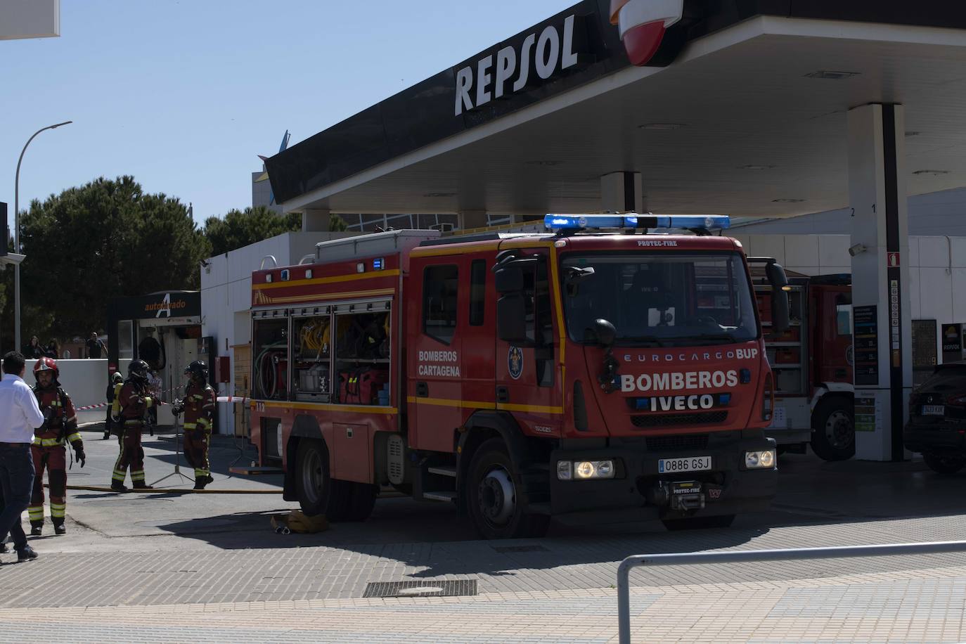
[[[484,539],[542,537],[550,517],[526,511],[520,481],[503,441],[491,438],[479,446],[469,462],[467,507],[473,527]]]

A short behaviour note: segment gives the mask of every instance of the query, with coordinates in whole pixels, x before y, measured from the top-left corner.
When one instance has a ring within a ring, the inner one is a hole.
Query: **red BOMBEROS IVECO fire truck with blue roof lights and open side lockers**
[[[488,539],[770,505],[775,384],[741,244],[708,234],[727,217],[544,224],[326,241],[252,273],[252,441],[287,500],[362,520],[394,488]]]

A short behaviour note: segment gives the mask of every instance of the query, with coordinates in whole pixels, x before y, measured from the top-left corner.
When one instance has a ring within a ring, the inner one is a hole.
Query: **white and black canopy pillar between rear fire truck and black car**
[[[909,226],[902,105],[848,113],[856,458],[901,461],[912,389]]]

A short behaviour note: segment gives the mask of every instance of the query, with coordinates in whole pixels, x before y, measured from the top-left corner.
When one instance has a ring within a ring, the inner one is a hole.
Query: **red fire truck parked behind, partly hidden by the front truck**
[[[852,384],[852,278],[809,277],[788,271],[790,325],[770,332],[773,287],[753,271],[765,328],[765,350],[775,375],[775,412],[766,434],[780,451],[812,452],[826,461],[855,455]]]

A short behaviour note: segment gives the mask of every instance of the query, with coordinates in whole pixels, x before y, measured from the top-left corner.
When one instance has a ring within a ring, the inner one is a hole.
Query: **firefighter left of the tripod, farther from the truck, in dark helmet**
[[[115,408],[120,416],[121,454],[114,463],[111,477],[111,490],[124,492],[125,477],[130,468],[130,482],[134,490],[152,490],[144,482],[144,448],[141,447],[141,430],[144,429],[144,416],[155,404],[148,395],[148,363],[144,360],[131,360],[128,365],[128,379],[125,380],[117,398]]]

